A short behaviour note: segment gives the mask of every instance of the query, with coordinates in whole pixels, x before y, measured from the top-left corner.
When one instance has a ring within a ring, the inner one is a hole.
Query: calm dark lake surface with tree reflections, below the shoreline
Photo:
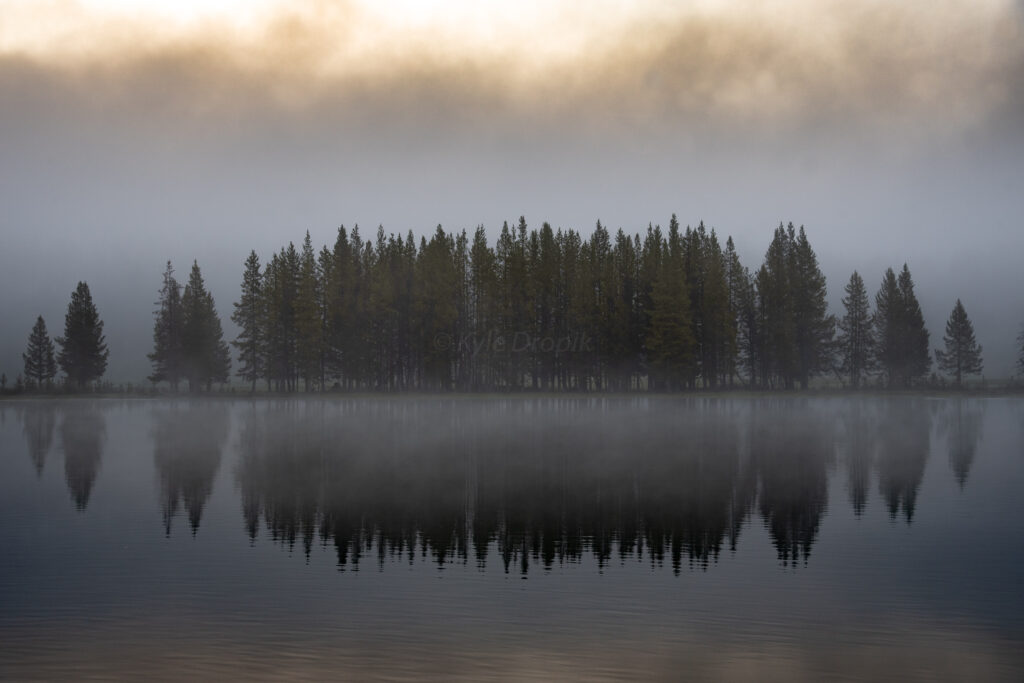
[[[1024,680],[1024,400],[0,402],[0,678]]]

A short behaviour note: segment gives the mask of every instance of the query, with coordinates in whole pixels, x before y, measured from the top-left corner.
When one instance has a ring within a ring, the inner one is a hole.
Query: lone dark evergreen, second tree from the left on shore
[[[69,383],[84,389],[106,372],[109,350],[103,337],[103,322],[92,302],[89,286],[79,283],[72,292],[65,315],[65,333],[57,337],[60,352],[57,362]]]

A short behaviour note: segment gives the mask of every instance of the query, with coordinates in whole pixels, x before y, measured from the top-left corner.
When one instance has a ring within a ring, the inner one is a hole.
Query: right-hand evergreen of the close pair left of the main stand
[[[231,354],[223,340],[220,317],[207,292],[199,263],[193,261],[188,284],[181,296],[183,325],[181,329],[185,377],[188,388],[209,391],[214,382],[226,382],[230,373]]]

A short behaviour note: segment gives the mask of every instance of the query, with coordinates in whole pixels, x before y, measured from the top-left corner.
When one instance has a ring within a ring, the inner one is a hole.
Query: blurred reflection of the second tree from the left
[[[65,478],[75,508],[84,511],[103,455],[106,420],[91,401],[65,403],[62,413],[59,431]]]

